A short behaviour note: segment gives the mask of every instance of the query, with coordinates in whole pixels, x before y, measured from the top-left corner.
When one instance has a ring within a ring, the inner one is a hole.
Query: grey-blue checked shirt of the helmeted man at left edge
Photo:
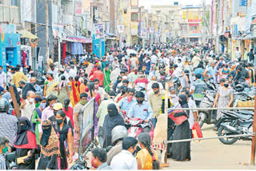
[[[13,145],[18,127],[18,119],[6,113],[0,113],[0,136],[8,137],[9,145]]]

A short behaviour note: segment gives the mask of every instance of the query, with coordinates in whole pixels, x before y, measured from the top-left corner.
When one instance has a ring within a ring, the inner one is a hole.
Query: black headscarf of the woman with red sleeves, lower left
[[[20,125],[24,124],[24,125]],[[27,131],[30,130],[32,133],[34,133],[34,130],[32,129],[30,120],[27,117],[19,117],[18,118],[18,131],[17,136],[14,141],[14,145],[26,145],[29,143],[27,138]]]

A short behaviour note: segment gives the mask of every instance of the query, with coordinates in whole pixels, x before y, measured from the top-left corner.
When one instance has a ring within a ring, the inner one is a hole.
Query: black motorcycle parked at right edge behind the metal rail
[[[222,111],[224,116],[218,121],[218,137],[225,135],[253,133],[253,113],[250,111]],[[232,145],[238,140],[250,141],[251,137],[227,137],[219,138],[225,145]]]

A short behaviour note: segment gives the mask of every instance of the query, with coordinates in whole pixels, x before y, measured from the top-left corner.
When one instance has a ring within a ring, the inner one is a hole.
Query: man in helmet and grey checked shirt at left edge
[[[18,130],[18,119],[7,113],[9,106],[6,98],[0,99],[0,136],[7,137],[10,140],[10,145],[13,145]]]

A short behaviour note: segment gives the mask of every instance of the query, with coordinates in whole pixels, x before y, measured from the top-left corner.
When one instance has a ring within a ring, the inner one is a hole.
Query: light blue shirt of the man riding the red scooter
[[[152,119],[153,110],[151,109],[150,103],[147,101],[143,101],[142,105],[139,106],[138,102],[131,105],[128,117],[140,118],[142,120]]]

